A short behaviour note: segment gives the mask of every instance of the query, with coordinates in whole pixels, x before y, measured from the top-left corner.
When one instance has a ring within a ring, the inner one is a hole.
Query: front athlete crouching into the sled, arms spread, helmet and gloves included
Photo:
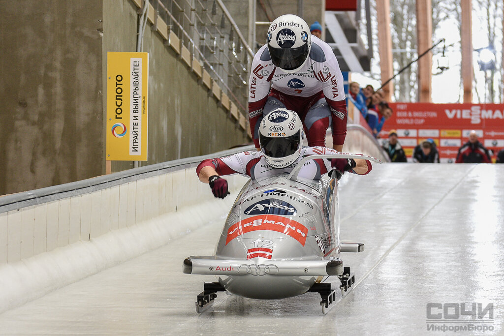
[[[279,131],[271,131],[278,129]],[[342,174],[350,171],[365,175],[371,164],[363,159],[317,159],[317,155],[339,154],[326,147],[302,147],[303,124],[299,116],[285,108],[268,113],[259,127],[261,152],[240,152],[231,156],[203,160],[196,169],[200,181],[210,183],[215,197],[229,194],[227,181],[222,175],[240,174],[253,180],[290,173],[305,156],[313,156],[301,167],[298,177],[318,180],[333,168]]]

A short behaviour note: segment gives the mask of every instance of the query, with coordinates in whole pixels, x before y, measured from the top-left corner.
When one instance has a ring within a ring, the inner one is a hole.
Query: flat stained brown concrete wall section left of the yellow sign
[[[0,194],[103,172],[101,0],[0,1]]]

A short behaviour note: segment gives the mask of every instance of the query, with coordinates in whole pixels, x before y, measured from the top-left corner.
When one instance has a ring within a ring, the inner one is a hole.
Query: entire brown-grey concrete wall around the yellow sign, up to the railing
[[[136,51],[137,4],[0,1],[0,194],[105,173],[106,53]],[[149,155],[141,165],[247,143],[244,111],[240,126],[219,88],[205,86],[150,27]],[[132,167],[113,162],[112,171]]]

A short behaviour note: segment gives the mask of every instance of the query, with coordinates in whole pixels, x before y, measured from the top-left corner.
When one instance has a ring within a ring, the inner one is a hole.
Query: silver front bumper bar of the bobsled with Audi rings
[[[182,265],[185,274],[228,276],[339,276],[343,274],[343,261],[331,260],[269,260],[256,265],[249,260],[218,259],[214,255],[190,256]]]

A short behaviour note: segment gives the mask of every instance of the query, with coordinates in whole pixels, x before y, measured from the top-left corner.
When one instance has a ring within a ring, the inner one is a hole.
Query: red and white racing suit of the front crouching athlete
[[[339,154],[326,147],[304,147],[301,149],[301,155],[294,161],[294,163],[285,168],[271,167],[264,157],[262,152],[240,152],[222,158],[206,159],[203,160],[196,168],[196,173],[200,175],[203,167],[213,167],[219,175],[241,174],[250,177],[253,180],[262,179],[265,177],[278,176],[281,173],[290,173],[296,163],[299,162],[304,156],[313,155],[313,160],[308,160],[299,170],[298,177],[318,180],[322,175],[331,171],[331,160],[317,159],[317,155],[323,154]],[[367,162],[367,173],[371,171],[371,164]],[[352,171],[353,172],[353,171]],[[365,174],[364,174],[365,175]]]

